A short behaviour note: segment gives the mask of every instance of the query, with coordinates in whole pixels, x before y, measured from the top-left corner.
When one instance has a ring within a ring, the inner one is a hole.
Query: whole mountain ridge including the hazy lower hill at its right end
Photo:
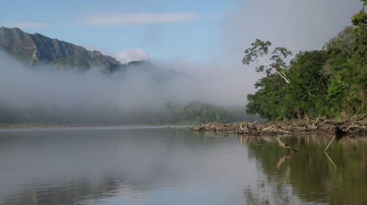
[[[28,34],[19,28],[0,27],[0,50],[29,66],[42,63],[54,65],[57,69],[85,71],[97,67],[102,73],[122,71],[131,74],[151,75],[157,82],[177,78],[189,78],[172,69],[156,68],[148,61],[132,61],[125,64],[99,51],[89,51],[66,41],[50,39],[44,35]],[[128,75],[128,74],[127,74]]]

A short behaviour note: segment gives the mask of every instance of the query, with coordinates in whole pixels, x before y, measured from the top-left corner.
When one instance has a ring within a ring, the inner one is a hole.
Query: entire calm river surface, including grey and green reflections
[[[212,139],[210,139],[212,137]],[[1,205],[366,205],[367,137],[0,130]]]

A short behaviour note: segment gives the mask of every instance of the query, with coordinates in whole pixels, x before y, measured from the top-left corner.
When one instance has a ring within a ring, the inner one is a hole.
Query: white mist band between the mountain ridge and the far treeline
[[[0,52],[1,103],[14,107],[37,105],[58,106],[63,109],[158,109],[165,102],[187,104],[191,101],[221,105],[244,105],[246,87],[241,81],[244,70],[223,69],[185,61],[182,63],[154,62],[157,68],[134,67],[130,71],[101,74],[97,68],[83,73],[59,71],[52,65],[26,67]],[[161,68],[161,69],[159,69]],[[178,75],[186,71],[192,78]],[[234,74],[235,75],[234,75]],[[252,87],[249,87],[253,89]]]

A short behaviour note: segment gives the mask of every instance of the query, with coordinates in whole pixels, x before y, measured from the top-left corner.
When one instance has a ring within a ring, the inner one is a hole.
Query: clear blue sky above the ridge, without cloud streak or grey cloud
[[[207,61],[221,35],[218,24],[233,8],[234,3],[227,0],[11,0],[1,2],[0,26],[17,26],[28,33],[112,53],[141,48],[154,59]],[[193,17],[178,22],[107,26],[82,21],[98,15],[141,13],[189,13]]]

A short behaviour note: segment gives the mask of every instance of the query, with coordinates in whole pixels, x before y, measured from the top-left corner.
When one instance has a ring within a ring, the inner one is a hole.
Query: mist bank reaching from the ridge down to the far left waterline
[[[0,123],[158,122],[143,118],[154,118],[167,102],[178,107],[193,101],[225,107],[246,103],[241,83],[230,79],[238,81],[238,76],[226,72],[187,76],[154,66],[112,74],[97,67],[77,72],[51,64],[25,66],[2,52],[0,62]]]

